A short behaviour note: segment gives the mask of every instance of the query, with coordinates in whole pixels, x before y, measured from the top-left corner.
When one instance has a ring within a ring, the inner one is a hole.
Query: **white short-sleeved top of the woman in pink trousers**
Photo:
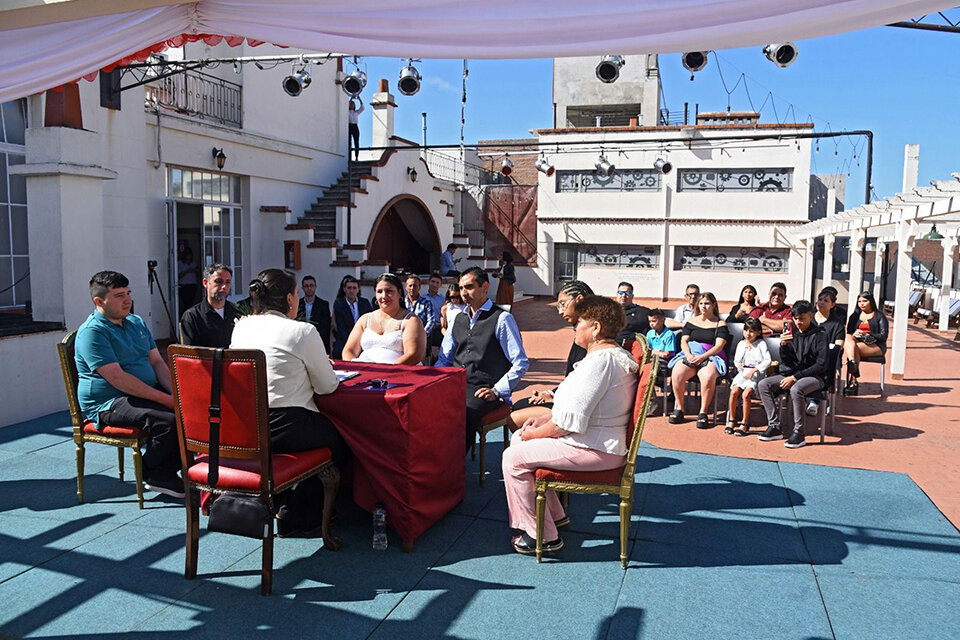
[[[627,423],[637,395],[636,361],[625,350],[597,349],[574,365],[554,394],[559,440],[614,455],[627,452]]]

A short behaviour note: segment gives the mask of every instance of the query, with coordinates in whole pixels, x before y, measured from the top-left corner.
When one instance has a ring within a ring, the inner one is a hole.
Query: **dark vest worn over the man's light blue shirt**
[[[493,387],[510,370],[510,362],[497,340],[497,319],[503,309],[494,306],[481,311],[470,328],[470,309],[458,313],[453,321],[453,340],[457,345],[453,364],[467,371],[467,386]]]

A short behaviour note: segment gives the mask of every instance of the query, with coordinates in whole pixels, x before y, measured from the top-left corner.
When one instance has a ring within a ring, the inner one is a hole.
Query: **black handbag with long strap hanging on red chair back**
[[[213,372],[210,382],[210,447],[207,456],[207,482],[217,486],[220,479],[220,389],[223,378],[223,349],[213,352]],[[210,505],[207,531],[229,533],[235,536],[263,539],[270,535],[273,514],[270,506],[259,495],[224,492]]]

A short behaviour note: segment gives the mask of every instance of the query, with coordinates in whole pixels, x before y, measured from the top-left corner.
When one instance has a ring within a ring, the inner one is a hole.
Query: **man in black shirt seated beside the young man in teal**
[[[230,346],[233,324],[240,317],[237,307],[227,300],[233,284],[233,272],[215,262],[203,270],[203,300],[180,318],[183,344],[226,349]]]

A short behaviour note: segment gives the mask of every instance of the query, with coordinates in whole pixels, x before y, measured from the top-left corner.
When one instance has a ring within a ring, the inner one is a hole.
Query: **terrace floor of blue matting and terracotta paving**
[[[569,330],[543,301],[517,315],[537,358],[529,379],[549,384]],[[954,358],[957,368],[956,351],[936,351],[932,335],[911,328],[910,338],[910,355],[929,345],[936,356],[923,361]],[[920,374],[920,360],[890,387],[885,402],[897,408],[871,414],[887,405],[859,397],[865,408],[838,420],[829,446],[787,452],[652,420],[627,571],[616,501],[602,496],[572,498],[557,558],[537,565],[513,553],[493,438],[486,485],[468,463],[465,501],[412,553],[394,536],[373,551],[369,515],[341,501],[344,548],[278,540],[268,598],[255,540],[202,532],[199,575],[184,580],[182,506],[154,496],[139,510],[112,449],[87,447],[87,502],[76,504],[65,413],[5,427],[0,636],[954,638],[960,534],[911,477],[951,480],[955,423],[950,407],[931,412],[956,403],[957,374]],[[892,469],[897,460],[914,466]],[[932,467],[940,475],[920,473]]]

